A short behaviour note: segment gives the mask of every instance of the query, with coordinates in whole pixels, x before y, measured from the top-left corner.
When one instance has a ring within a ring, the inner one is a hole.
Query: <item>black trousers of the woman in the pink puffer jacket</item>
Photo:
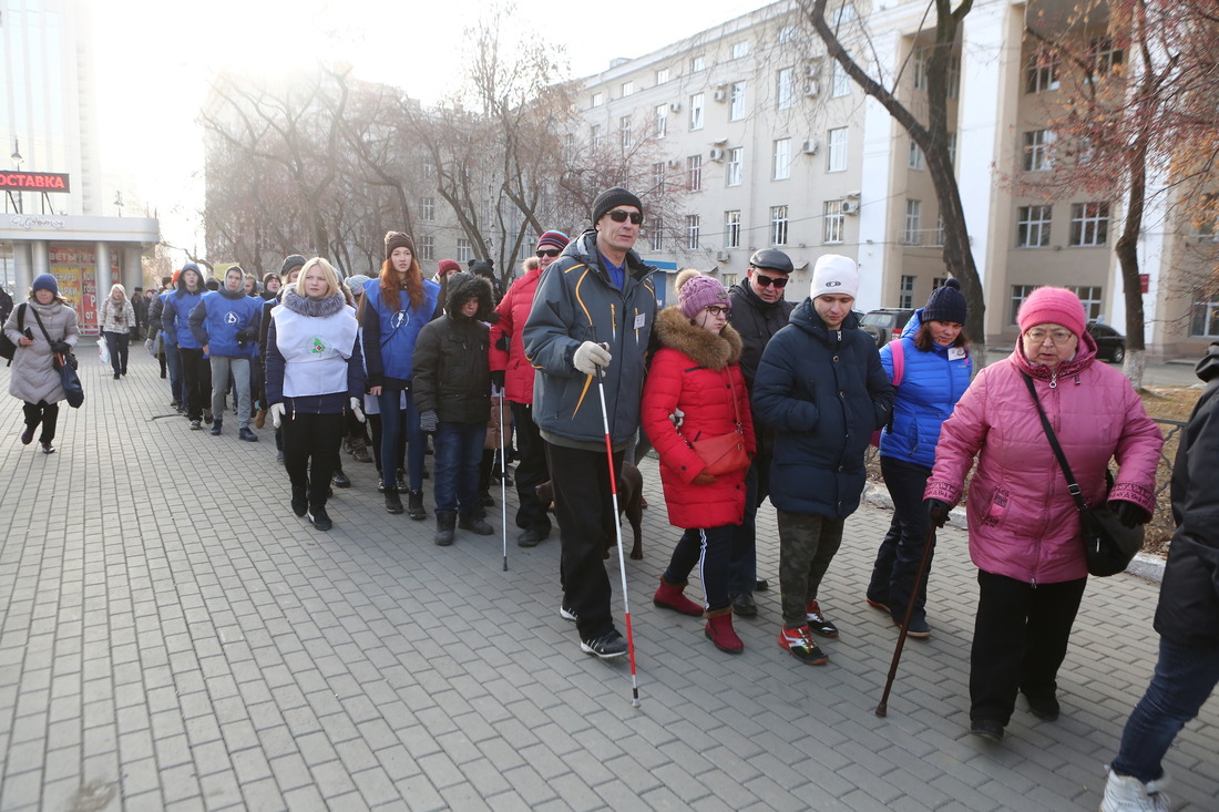
[[[969,718],[1007,724],[1018,691],[1053,699],[1087,578],[1032,585],[978,571]]]

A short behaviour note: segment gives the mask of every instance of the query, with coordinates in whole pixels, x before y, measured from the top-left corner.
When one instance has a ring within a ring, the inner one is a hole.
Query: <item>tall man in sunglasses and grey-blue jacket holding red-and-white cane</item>
[[[634,194],[601,193],[594,228],[541,274],[524,328],[525,355],[538,371],[534,421],[546,443],[562,544],[561,612],[575,621],[580,649],[602,660],[628,651],[610,611],[603,554],[617,522],[612,475],[639,430],[656,316],[655,268],[631,250],[642,222]]]

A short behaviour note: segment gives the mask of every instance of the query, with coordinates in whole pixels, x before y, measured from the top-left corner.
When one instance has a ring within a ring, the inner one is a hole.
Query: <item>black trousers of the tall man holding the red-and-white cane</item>
[[[613,455],[613,469],[622,471],[623,452]],[[579,618],[581,640],[613,630],[610,612],[610,575],[606,574],[606,539],[613,536],[613,494],[605,451],[567,449],[546,443],[555,488],[555,518],[562,544],[560,569],[563,606]]]

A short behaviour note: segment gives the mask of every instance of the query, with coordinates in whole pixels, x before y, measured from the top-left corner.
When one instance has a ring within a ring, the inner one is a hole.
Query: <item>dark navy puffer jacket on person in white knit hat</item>
[[[894,388],[852,313],[826,329],[806,299],[762,351],[753,416],[775,432],[770,501],[789,513],[846,518],[859,506],[863,452],[889,422]]]

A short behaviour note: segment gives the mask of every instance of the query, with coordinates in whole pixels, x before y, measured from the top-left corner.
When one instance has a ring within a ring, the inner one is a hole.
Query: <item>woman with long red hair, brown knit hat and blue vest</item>
[[[380,274],[364,285],[360,326],[363,328],[368,394],[382,413],[382,486],[385,510],[402,512],[397,495],[397,440],[405,407],[410,515],[427,518],[423,507],[423,429],[411,395],[416,339],[423,326],[440,315],[440,285],[423,278],[414,258],[414,241],[402,232],[385,234]]]

